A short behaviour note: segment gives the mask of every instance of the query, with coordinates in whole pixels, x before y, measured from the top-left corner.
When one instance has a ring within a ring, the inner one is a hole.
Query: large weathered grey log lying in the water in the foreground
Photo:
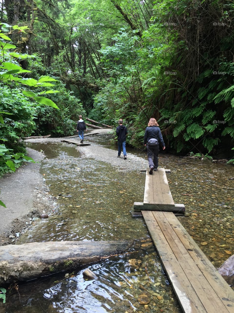
[[[27,281],[121,254],[134,241],[50,241],[0,247],[0,285]]]

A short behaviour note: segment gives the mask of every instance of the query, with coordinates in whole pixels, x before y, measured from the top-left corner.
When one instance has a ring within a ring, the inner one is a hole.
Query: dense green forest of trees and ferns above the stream
[[[168,150],[234,159],[232,1],[0,5],[2,156],[23,153],[24,136],[72,135],[82,114],[108,125],[123,118],[134,147],[155,117]],[[22,70],[8,73],[6,61]],[[24,84],[12,85],[9,75]],[[41,77],[53,81],[38,85]],[[35,87],[47,100],[37,101]]]

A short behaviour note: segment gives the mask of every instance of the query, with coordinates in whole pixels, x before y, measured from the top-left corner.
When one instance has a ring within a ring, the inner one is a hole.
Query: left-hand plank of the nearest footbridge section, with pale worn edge
[[[186,313],[207,313],[201,300],[193,289],[193,286],[185,275],[180,262],[178,262],[173,254],[173,251],[158,226],[153,213],[150,211],[142,211],[142,215],[183,311]],[[213,313],[215,312],[216,311]]]

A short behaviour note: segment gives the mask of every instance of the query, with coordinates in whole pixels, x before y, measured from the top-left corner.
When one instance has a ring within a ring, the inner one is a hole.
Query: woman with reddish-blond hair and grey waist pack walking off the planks
[[[144,146],[147,148],[149,161],[149,174],[152,174],[153,171],[158,170],[159,141],[163,145],[163,150],[165,150],[165,143],[163,141],[163,136],[161,134],[159,125],[155,118],[151,118],[149,120],[148,126],[146,127],[144,135]]]

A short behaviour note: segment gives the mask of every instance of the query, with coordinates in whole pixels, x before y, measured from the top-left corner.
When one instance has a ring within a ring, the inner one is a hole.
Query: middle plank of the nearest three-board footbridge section
[[[228,312],[172,228],[170,223],[177,218],[170,213],[153,212],[153,215],[207,313],[214,313],[216,310]]]

